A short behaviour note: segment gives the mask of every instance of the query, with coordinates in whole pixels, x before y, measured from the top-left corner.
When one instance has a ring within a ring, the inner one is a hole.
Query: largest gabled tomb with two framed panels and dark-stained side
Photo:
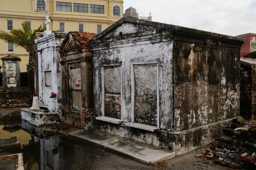
[[[180,155],[240,113],[240,38],[124,17],[90,44],[95,129]]]

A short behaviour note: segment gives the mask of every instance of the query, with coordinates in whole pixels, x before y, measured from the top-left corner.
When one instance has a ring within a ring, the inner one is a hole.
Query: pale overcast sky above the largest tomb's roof
[[[153,21],[236,36],[256,33],[256,0],[124,0]]]

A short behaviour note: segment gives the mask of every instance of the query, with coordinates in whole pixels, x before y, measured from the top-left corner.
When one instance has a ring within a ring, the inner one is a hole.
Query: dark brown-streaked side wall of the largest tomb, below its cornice
[[[176,41],[175,131],[239,115],[240,49]]]

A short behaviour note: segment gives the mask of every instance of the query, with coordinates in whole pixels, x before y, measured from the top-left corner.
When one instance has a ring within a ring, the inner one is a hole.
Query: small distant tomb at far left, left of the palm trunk
[[[3,87],[20,87],[20,61],[17,56],[7,55],[3,61]]]

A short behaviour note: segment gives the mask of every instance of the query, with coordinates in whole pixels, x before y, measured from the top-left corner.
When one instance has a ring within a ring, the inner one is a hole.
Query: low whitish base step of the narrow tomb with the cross
[[[59,113],[44,112],[44,110],[20,109],[22,120],[25,120],[35,126],[57,123]]]

